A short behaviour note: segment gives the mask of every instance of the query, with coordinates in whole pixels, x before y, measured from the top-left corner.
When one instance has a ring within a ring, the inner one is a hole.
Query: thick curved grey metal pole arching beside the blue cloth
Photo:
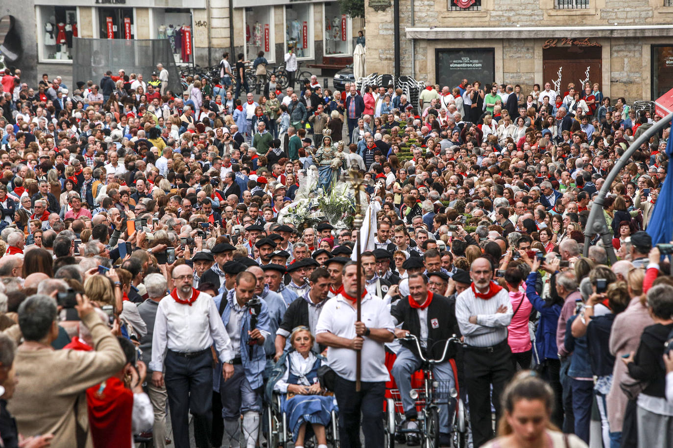
[[[587,219],[587,225],[584,228],[584,251],[583,256],[589,256],[589,243],[591,242],[594,235],[599,233],[601,234],[605,250],[610,257],[610,263],[615,263],[617,261],[616,255],[614,255],[614,249],[612,249],[612,244],[610,244],[608,224],[605,222],[605,216],[603,214],[603,204],[605,202],[605,196],[610,191],[610,186],[614,179],[616,179],[619,171],[627,165],[631,154],[633,154],[641,144],[649,141],[649,138],[653,136],[656,132],[659,132],[660,129],[670,126],[670,122],[673,120],[673,112],[668,114],[666,117],[662,118],[658,122],[652,125],[651,128],[643,132],[641,136],[635,139],[631,146],[625,150],[624,154],[619,158],[617,163],[612,167],[610,173],[608,173],[603,183],[603,187],[598,191],[598,196],[594,199],[594,204],[592,205],[591,211],[589,212],[589,218]]]

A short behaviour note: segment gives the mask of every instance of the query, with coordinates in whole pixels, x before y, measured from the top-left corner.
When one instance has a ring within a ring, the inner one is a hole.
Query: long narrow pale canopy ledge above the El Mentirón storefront
[[[405,28],[407,39],[550,39],[673,37],[673,25]]]

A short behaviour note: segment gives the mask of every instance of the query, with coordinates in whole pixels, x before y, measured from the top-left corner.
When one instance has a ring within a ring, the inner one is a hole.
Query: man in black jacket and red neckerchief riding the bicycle
[[[446,340],[456,334],[460,337],[458,321],[456,320],[455,302],[427,289],[427,278],[417,273],[409,275],[408,300],[399,300],[390,310],[395,324],[402,324],[402,328],[395,331],[395,336],[406,337],[413,334],[421,342],[423,355],[427,359],[440,359],[444,352]],[[444,362],[433,366],[433,375],[441,385],[441,392],[446,394],[454,388],[454,372],[449,363],[454,349],[448,351]],[[421,357],[413,341],[402,341],[402,347],[397,353],[397,359],[392,366],[392,375],[402,397],[404,416],[407,421],[406,429],[417,428],[417,410],[415,400],[409,396],[411,391],[411,375],[421,367]],[[439,409],[440,444],[450,444],[448,400],[441,404]],[[419,437],[415,433],[406,436],[408,445],[418,445]]]

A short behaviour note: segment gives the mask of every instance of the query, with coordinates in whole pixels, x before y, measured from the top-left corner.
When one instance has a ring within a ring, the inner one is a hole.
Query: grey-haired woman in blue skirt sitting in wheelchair
[[[318,448],[327,448],[325,427],[336,410],[333,396],[322,396],[318,382],[318,367],[324,357],[311,351],[314,336],[306,326],[298,326],[290,335],[292,349],[276,364],[285,372],[273,386],[275,392],[285,394],[281,411],[288,418],[295,448],[304,447],[306,424],[310,423],[318,441]]]

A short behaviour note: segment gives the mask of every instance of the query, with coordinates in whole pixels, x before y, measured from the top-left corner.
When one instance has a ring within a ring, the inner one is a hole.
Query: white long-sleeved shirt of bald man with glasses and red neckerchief
[[[152,337],[149,369],[164,370],[166,349],[180,353],[203,351],[215,342],[220,361],[234,358],[222,319],[213,298],[203,292],[191,306],[178,304],[169,294],[159,302]]]

